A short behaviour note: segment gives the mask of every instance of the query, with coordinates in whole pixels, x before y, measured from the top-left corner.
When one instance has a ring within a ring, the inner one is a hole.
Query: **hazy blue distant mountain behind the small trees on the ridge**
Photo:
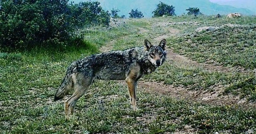
[[[85,2],[88,0],[70,0],[75,3]],[[132,9],[138,8],[144,17],[152,17],[152,12],[156,9],[156,5],[159,1],[168,5],[175,6],[175,13],[181,15],[187,13],[186,9],[189,7],[197,7],[200,12],[206,15],[216,14],[229,14],[231,12],[240,12],[245,15],[252,15],[254,12],[245,8],[235,8],[232,6],[224,6],[216,3],[212,3],[209,0],[91,0],[100,2],[104,10],[112,10],[112,8],[118,8],[120,10],[119,15],[129,16],[129,12]]]

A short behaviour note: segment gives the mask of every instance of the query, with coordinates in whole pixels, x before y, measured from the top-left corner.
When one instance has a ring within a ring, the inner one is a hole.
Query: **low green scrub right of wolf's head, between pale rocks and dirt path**
[[[214,60],[224,65],[256,67],[254,42],[256,31],[248,28],[220,28],[216,32],[194,33],[174,40],[176,51],[204,61]],[[182,45],[181,45],[182,44]]]

